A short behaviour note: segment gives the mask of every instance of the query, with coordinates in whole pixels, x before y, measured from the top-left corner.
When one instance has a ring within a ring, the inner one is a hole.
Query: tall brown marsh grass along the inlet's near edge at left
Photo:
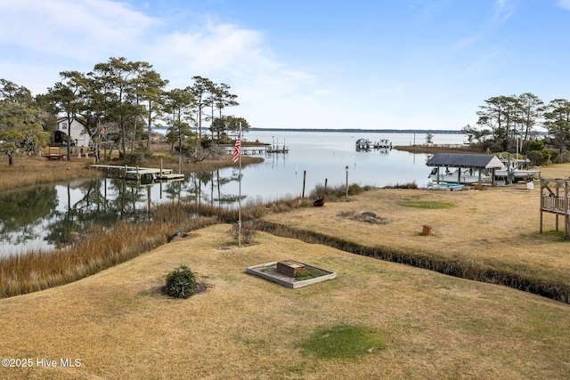
[[[30,251],[0,259],[0,297],[57,287],[124,263],[167,243],[175,230],[198,230],[220,222],[216,217],[189,217],[178,206],[160,206],[157,222],[118,222],[94,227],[73,245],[54,251]]]

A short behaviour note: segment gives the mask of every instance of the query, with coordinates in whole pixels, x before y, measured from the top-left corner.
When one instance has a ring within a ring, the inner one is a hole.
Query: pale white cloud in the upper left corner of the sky
[[[74,60],[133,42],[159,24],[125,4],[108,0],[2,2],[0,44]]]

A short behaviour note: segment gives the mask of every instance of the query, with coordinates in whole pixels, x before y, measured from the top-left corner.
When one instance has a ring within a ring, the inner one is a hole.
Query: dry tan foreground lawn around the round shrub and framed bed
[[[267,233],[236,247],[227,230],[191,232],[69,285],[0,300],[0,351],[34,360],[0,377],[570,376],[570,305]],[[289,289],[245,273],[281,259],[338,277]],[[206,293],[161,294],[181,264]],[[41,358],[58,366],[38,368]],[[81,367],[62,368],[61,358]]]

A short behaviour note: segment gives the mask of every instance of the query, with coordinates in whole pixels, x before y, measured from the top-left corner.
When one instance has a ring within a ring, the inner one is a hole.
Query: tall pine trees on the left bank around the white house
[[[32,96],[23,85],[0,79],[0,150],[12,164],[16,150],[37,150],[50,141],[58,117],[83,125],[95,159],[118,150],[126,157],[151,150],[152,125],[164,121],[166,139],[180,155],[197,156],[212,141],[249,125],[242,117],[224,115],[238,106],[230,85],[207,77],[191,77],[185,88],[167,90],[169,81],[144,61],[110,58],[88,73],[62,71],[61,80]],[[207,128],[208,125],[208,128]],[[209,134],[208,134],[209,130]],[[69,144],[69,135],[65,143]],[[68,149],[69,158],[69,149]]]

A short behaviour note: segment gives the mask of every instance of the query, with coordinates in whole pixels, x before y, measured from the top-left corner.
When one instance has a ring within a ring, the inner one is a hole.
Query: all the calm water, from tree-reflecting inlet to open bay
[[[344,186],[348,182],[386,186],[416,182],[425,185],[430,172],[428,155],[399,150],[357,152],[359,138],[388,139],[393,145],[425,142],[417,133],[294,133],[255,131],[247,141],[264,141],[289,148],[288,154],[265,156],[265,162],[242,168],[244,199],[274,199],[301,195],[306,172],[305,196],[316,184]],[[434,143],[461,143],[462,134],[435,134]],[[29,191],[0,195],[0,256],[24,254],[28,249],[64,245],[93,223],[112,226],[120,219],[142,221],[153,204],[171,199],[197,200],[217,206],[236,206],[239,170],[228,168],[187,174],[183,182],[137,186],[132,182],[100,179],[73,181]]]

